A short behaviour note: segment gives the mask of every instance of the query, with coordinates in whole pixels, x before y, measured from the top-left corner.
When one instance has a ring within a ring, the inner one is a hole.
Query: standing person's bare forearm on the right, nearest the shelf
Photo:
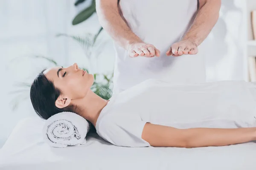
[[[219,17],[221,0],[200,0],[205,3],[200,6],[198,14],[189,31],[183,37],[183,40],[190,40],[196,46],[200,45],[208,36]]]

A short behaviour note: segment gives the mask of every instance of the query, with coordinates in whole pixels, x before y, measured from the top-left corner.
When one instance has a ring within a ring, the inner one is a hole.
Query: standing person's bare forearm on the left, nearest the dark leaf
[[[121,47],[127,50],[131,43],[143,42],[119,14],[117,0],[96,0],[96,11],[102,27]]]

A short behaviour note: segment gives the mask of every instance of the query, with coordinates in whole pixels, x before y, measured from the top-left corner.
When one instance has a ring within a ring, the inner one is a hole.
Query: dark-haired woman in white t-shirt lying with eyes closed
[[[47,69],[31,86],[32,105],[43,119],[77,113],[117,146],[190,148],[256,140],[253,83],[172,85],[148,79],[108,101],[90,90],[93,81],[76,63]]]

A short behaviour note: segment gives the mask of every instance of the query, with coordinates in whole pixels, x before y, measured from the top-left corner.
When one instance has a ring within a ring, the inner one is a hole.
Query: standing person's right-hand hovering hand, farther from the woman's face
[[[166,52],[167,56],[179,57],[183,54],[195,55],[198,53],[196,44],[190,40],[182,40],[174,43],[169,50]]]

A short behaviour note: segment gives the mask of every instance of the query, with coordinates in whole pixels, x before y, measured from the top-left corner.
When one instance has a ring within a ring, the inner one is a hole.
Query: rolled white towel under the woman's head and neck
[[[77,146],[86,143],[89,128],[89,123],[82,116],[61,112],[46,120],[43,135],[51,147]]]

